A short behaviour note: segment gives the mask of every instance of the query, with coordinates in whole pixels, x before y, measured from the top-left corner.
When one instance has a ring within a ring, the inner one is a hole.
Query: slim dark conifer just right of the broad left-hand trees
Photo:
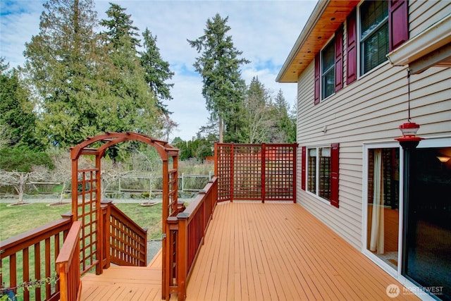
[[[161,59],[160,49],[156,47],[156,36],[153,37],[152,32],[146,28],[142,32],[142,37],[144,37],[144,51],[141,51],[140,55],[144,78],[156,96],[156,105],[163,113],[169,114],[171,112],[166,109],[163,100],[173,99],[170,90],[174,84],[168,84],[166,80],[171,80],[174,73],[170,70],[169,63]]]

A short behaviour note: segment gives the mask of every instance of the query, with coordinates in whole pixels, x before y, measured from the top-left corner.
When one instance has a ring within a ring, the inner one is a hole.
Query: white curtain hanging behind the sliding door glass
[[[369,250],[383,254],[383,164],[382,150],[374,150],[373,210],[371,214],[371,237]]]

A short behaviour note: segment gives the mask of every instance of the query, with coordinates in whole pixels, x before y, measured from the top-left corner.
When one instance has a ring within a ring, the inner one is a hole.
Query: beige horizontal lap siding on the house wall
[[[438,3],[439,2],[439,3]],[[409,3],[409,37],[449,14],[449,1]],[[425,13],[427,11],[427,13]],[[427,17],[426,17],[427,16]],[[343,39],[346,40],[346,32]],[[344,43],[346,54],[346,43]],[[346,55],[343,66],[346,70]],[[345,75],[344,75],[345,77]],[[410,78],[411,116],[426,139],[450,137],[451,72],[433,67]],[[363,145],[366,142],[394,142],[398,126],[407,121],[407,66],[383,63],[363,77],[346,84],[333,96],[314,105],[314,61],[297,82],[297,142],[302,146],[340,143],[339,208],[302,190],[297,181],[297,202],[358,249],[362,248],[364,178]],[[324,126],[326,133],[323,133]],[[298,155],[299,176],[302,156]]]

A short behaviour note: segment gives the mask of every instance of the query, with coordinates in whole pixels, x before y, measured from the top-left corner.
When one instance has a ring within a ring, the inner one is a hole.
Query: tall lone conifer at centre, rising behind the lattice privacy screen
[[[204,85],[202,95],[206,100],[206,109],[211,119],[219,125],[219,141],[223,142],[223,130],[227,140],[239,139],[240,124],[237,123],[242,113],[246,85],[241,78],[240,66],[249,63],[240,59],[242,51],[233,46],[232,37],[228,34],[230,26],[228,17],[221,18],[216,14],[206,21],[204,35],[194,40],[187,40],[201,56],[197,57],[194,68],[202,75]]]

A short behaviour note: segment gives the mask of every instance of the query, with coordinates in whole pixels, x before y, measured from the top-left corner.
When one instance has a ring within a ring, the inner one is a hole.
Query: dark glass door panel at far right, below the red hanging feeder
[[[402,274],[451,300],[451,148],[419,148],[406,209]]]

